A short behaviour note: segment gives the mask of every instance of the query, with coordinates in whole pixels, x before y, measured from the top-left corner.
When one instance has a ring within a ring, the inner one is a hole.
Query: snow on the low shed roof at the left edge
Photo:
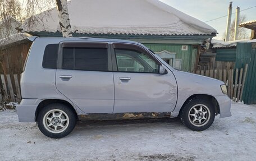
[[[7,38],[0,39],[0,47],[2,47],[4,45],[15,43],[15,42],[19,42],[21,40],[28,38],[29,36],[31,36],[31,35],[25,34],[25,33],[13,34]]]

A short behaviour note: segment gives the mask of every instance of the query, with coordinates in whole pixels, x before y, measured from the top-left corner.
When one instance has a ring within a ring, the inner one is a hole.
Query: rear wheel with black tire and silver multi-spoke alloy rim
[[[57,114],[57,116],[54,117],[55,115],[53,116],[53,113]],[[54,119],[53,117],[56,119]],[[47,118],[51,118],[52,121]],[[63,121],[65,119],[66,121]],[[56,123],[55,120],[59,120],[60,122]],[[68,107],[65,104],[53,103],[41,109],[37,117],[37,122],[39,130],[45,136],[58,139],[67,136],[74,129],[76,125],[76,113],[72,111],[71,107]],[[61,127],[60,125],[64,127]],[[57,129],[56,131],[54,131],[56,126]]]

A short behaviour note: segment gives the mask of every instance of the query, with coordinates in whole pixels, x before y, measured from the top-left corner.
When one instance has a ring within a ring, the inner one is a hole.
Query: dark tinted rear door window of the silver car
[[[106,48],[63,48],[63,68],[108,71]]]

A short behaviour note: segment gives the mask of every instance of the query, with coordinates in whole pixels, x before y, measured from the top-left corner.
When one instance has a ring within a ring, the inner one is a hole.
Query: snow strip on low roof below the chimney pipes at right
[[[212,39],[211,43],[213,44],[212,48],[228,48],[228,47],[236,47],[236,43],[253,43],[256,42],[256,39],[244,39],[244,40],[235,40],[231,42],[224,42],[223,40]]]

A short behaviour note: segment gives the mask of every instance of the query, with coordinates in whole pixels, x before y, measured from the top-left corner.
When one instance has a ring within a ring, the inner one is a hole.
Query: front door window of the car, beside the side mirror
[[[115,49],[118,71],[158,73],[158,65],[144,53],[130,49]]]

